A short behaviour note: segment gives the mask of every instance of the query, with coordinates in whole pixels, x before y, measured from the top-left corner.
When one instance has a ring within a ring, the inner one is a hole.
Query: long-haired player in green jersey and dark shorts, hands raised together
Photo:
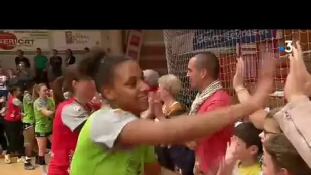
[[[49,90],[45,84],[35,85],[33,109],[36,121],[35,136],[39,147],[37,164],[42,167],[43,174],[46,173],[45,152],[48,139],[51,141],[55,108],[53,100],[48,95]]]

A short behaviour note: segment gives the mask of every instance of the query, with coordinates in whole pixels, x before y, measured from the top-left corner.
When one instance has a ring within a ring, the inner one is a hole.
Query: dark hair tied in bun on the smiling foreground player
[[[101,92],[101,86],[109,84],[114,78],[113,71],[117,65],[124,61],[132,60],[125,55],[106,55],[101,49],[94,49],[86,54],[86,57],[79,63],[79,70],[87,76],[93,77],[96,89]]]

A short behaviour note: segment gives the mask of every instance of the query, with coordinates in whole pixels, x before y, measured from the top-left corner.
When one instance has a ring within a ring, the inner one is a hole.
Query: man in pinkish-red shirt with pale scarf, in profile
[[[189,114],[205,113],[230,105],[230,97],[222,89],[218,79],[219,67],[219,59],[211,52],[202,52],[189,60],[187,76],[191,88],[199,91]],[[225,155],[227,142],[233,135],[233,129],[234,125],[230,125],[210,137],[187,144],[195,150],[195,174],[216,174],[220,160]]]

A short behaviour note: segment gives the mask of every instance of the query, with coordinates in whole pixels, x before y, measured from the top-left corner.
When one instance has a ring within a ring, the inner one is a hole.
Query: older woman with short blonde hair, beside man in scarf
[[[182,104],[176,100],[181,91],[181,81],[175,75],[163,75],[158,80],[158,95],[163,101],[163,118],[157,121],[165,122],[167,118],[173,118],[186,113]],[[163,167],[180,174],[193,174],[194,153],[184,145],[169,145],[156,147],[158,161]]]

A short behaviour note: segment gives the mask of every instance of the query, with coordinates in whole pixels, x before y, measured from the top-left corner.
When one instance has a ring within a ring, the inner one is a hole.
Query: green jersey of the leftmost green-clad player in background
[[[23,97],[23,110],[23,123],[35,123],[32,96],[29,93],[26,93]]]

